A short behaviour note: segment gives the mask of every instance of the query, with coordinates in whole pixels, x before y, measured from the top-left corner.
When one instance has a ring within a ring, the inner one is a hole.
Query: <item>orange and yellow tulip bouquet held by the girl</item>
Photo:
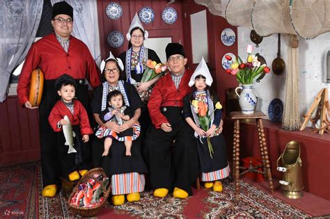
[[[202,94],[202,95],[205,95],[205,94]],[[198,117],[198,121],[201,124],[201,129],[203,129],[204,131],[207,131],[208,129],[210,129],[212,124],[211,124],[210,115],[208,113],[207,103],[203,102],[201,100],[201,97],[196,97],[196,99],[194,99],[191,102],[191,105],[193,106],[194,111],[195,111],[195,113]],[[221,106],[220,102],[217,102],[217,104],[215,104],[214,111],[216,109],[221,109],[221,108],[222,108],[222,106]],[[214,111],[213,111],[213,113],[214,113]],[[210,136],[210,137],[212,137],[212,136]],[[212,147],[212,144],[211,144],[210,137],[206,137],[207,147],[209,148],[210,156],[213,159],[212,154],[214,154],[214,152],[213,152],[213,147]]]

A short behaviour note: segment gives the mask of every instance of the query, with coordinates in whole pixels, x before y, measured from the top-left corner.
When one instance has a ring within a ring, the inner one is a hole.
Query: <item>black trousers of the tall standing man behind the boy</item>
[[[85,79],[75,80],[77,83],[76,97],[88,109],[88,87]],[[41,168],[43,186],[60,184],[62,175],[61,162],[57,151],[57,135],[48,122],[50,111],[58,101],[55,80],[45,80],[42,100],[39,106]]]

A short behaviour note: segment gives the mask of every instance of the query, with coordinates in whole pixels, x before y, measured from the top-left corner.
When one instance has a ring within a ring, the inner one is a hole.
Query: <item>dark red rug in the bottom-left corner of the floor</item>
[[[39,162],[0,168],[0,218],[37,218]]]

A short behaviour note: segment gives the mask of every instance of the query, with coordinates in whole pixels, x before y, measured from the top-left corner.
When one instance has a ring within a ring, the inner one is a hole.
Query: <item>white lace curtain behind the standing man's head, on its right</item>
[[[52,5],[61,0],[51,0]],[[66,0],[73,8],[72,35],[84,42],[97,63],[101,63],[100,34],[97,22],[97,2],[95,0]]]

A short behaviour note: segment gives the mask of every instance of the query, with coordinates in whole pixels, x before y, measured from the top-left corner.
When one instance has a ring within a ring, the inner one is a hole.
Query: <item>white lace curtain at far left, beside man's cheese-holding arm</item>
[[[0,103],[6,99],[11,72],[36,37],[42,5],[42,0],[0,1]]]

